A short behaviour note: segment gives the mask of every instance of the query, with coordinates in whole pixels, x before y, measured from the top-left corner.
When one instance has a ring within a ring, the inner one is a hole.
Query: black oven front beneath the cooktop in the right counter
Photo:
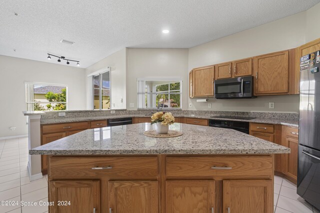
[[[227,129],[234,129],[234,130],[249,134],[249,122],[245,122],[245,121],[209,119],[209,126],[210,127],[221,127],[221,128],[227,128]]]

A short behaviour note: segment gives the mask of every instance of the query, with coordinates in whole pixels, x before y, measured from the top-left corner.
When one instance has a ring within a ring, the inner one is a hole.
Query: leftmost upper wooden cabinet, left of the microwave
[[[213,96],[213,81],[214,66],[192,69],[189,73],[189,97]]]

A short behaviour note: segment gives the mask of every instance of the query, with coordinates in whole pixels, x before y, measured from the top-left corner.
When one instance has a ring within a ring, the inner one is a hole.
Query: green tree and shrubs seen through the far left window
[[[66,89],[61,89],[61,93],[47,92],[44,97],[48,102],[66,102]],[[38,102],[34,100],[34,102]],[[44,111],[44,110],[65,110],[65,103],[49,103],[46,105],[46,109],[38,103],[34,103],[34,111]]]

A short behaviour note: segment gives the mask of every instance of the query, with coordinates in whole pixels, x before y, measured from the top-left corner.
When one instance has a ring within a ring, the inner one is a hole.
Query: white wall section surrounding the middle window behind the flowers
[[[126,108],[135,110],[137,78],[182,77],[182,108],[187,108],[188,49],[127,48]],[[129,108],[133,103],[134,108]]]

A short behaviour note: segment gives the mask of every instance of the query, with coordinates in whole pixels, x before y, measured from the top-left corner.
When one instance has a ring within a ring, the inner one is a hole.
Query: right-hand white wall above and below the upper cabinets
[[[306,12],[244,30],[189,49],[188,70],[255,55],[295,48],[305,43]],[[275,102],[274,109],[268,102]],[[196,103],[193,110],[298,112],[298,95],[257,97],[256,99],[216,100]]]

